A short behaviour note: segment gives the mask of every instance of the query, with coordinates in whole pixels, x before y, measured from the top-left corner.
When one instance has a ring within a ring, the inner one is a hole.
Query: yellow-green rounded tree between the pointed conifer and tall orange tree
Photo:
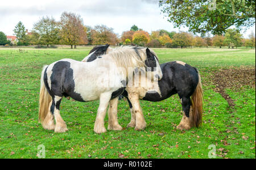
[[[38,22],[34,24],[33,32],[35,38],[39,35],[39,44],[59,44],[59,31],[60,24],[55,21],[54,18],[49,18],[49,16],[41,18]],[[35,40],[35,39],[34,39]]]

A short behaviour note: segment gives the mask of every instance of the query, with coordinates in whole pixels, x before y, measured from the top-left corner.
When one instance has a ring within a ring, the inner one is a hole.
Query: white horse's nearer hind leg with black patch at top
[[[55,132],[65,132],[68,131],[66,123],[63,121],[63,119],[60,116],[60,102],[62,97],[55,96],[52,98],[52,105],[51,105],[51,111],[55,118]]]

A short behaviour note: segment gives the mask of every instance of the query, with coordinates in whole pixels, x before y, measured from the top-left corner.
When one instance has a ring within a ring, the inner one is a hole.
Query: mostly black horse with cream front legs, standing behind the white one
[[[96,60],[97,56],[93,55],[96,51],[111,53],[112,50],[113,48],[110,48],[108,44],[98,45],[82,61]],[[147,55],[148,57],[152,57],[155,56],[155,53],[151,51]],[[156,90],[155,93],[152,93],[151,89],[135,86],[126,86],[125,91],[122,93],[127,98],[131,111],[131,122],[128,124],[128,127],[135,127],[135,130],[141,130],[146,127],[142,109],[139,105],[139,99],[157,102],[169,98],[174,94],[179,95],[183,109],[183,118],[177,128],[188,130],[191,127],[199,127],[203,114],[203,90],[199,72],[196,68],[182,61],[171,61],[160,64],[160,68],[163,77],[157,82],[159,90]],[[145,80],[141,79],[140,81]],[[117,103],[114,103],[114,105],[117,105]]]

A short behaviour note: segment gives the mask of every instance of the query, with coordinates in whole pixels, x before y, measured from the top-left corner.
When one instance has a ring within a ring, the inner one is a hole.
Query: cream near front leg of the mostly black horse
[[[139,104],[139,96],[138,94],[135,93],[128,93],[128,98],[130,99],[131,105],[133,106],[133,112],[135,113],[135,121],[136,121],[136,126],[135,130],[143,130],[146,127],[146,122],[143,117],[141,105]],[[133,114],[132,119],[133,119]]]

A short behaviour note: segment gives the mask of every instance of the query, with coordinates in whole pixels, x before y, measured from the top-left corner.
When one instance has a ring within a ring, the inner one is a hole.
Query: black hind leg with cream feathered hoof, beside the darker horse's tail
[[[189,130],[191,128],[191,123],[189,121],[189,113],[191,113],[191,99],[190,97],[182,97],[180,101],[183,110],[183,117],[177,128],[179,130]]]

